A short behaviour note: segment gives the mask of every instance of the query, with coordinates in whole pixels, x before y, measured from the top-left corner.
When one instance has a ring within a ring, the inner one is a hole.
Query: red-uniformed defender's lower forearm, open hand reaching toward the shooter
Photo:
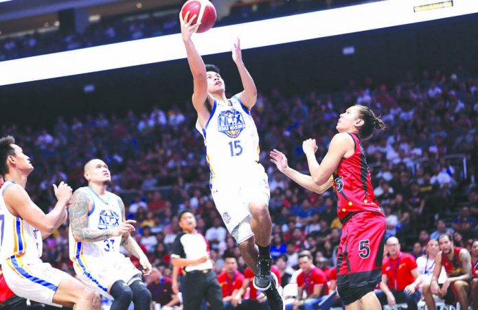
[[[312,180],[312,176],[301,174],[299,171],[289,167],[287,163],[287,157],[284,155],[284,153],[274,149],[271,151],[270,156],[271,162],[275,164],[277,169],[285,174],[288,178],[299,184],[301,187],[318,194],[321,194],[332,187],[332,176],[330,176],[329,180],[325,184],[317,185],[314,180]]]

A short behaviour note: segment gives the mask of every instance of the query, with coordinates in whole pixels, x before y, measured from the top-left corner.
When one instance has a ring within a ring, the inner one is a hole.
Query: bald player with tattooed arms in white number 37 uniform
[[[150,309],[151,294],[141,281],[141,271],[120,253],[120,245],[139,259],[144,274],[151,272],[148,258],[130,232],[133,220],[125,220],[120,197],[106,191],[111,174],[106,163],[92,159],[84,165],[87,187],[80,187],[71,199],[69,213],[69,254],[73,268],[85,285],[113,298],[111,310]]]

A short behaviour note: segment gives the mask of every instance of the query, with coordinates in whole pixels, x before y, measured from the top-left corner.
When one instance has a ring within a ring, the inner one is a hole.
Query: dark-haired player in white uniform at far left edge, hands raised
[[[54,185],[58,202],[47,215],[25,191],[33,171],[12,136],[0,139],[0,264],[8,287],[17,296],[47,305],[100,309],[100,298],[69,274],[41,261],[43,239],[65,219],[71,187]]]

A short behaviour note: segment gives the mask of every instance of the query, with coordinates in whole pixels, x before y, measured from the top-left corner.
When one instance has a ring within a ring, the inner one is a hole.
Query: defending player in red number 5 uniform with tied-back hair
[[[352,106],[340,115],[337,131],[322,163],[315,152],[315,139],[302,144],[310,176],[288,167],[282,152],[273,150],[271,160],[277,169],[297,184],[323,193],[334,187],[339,200],[337,213],[343,224],[337,253],[337,291],[350,309],[381,309],[374,288],[382,276],[385,216],[375,199],[370,172],[361,140],[383,121],[366,106]]]

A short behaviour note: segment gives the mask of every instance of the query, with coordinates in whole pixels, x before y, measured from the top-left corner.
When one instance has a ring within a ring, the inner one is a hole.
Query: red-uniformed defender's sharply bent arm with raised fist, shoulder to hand
[[[307,139],[302,143],[302,149],[307,156],[307,163],[310,171],[310,176],[315,184],[323,185],[330,180],[333,172],[339,167],[345,153],[354,147],[354,141],[348,134],[336,134],[332,141],[330,141],[329,149],[322,163],[319,165],[315,152],[317,151],[317,144],[315,139]]]

